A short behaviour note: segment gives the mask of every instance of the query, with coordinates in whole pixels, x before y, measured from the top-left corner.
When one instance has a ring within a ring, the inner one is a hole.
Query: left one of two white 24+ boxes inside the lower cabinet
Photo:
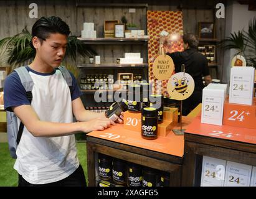
[[[202,159],[201,187],[223,187],[226,160],[204,156]]]

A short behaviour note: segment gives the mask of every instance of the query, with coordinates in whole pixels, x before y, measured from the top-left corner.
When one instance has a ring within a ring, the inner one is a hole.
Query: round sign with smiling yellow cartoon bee
[[[184,100],[192,95],[195,83],[188,73],[176,73],[169,78],[167,90],[169,96],[176,100]]]

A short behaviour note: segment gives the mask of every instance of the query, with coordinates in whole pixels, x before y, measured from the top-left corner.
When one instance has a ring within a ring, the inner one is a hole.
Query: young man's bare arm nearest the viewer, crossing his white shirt
[[[16,106],[12,109],[24,126],[26,126],[27,130],[35,137],[67,136],[80,131],[103,130],[107,129],[111,124],[115,125],[108,118],[95,118],[82,123],[52,123],[40,121],[31,105]]]

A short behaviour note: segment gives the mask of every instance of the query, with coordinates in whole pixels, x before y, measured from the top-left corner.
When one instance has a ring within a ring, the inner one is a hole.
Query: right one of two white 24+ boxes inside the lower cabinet
[[[224,187],[249,187],[252,166],[227,161]]]

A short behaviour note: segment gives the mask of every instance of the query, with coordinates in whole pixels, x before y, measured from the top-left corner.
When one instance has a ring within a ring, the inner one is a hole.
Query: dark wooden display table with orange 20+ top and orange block
[[[141,114],[129,113],[128,111],[125,112],[124,124],[116,124],[116,126],[111,126],[104,131],[88,133],[88,186],[97,185],[98,153],[169,172],[169,185],[180,186],[184,139],[183,136],[175,136],[171,132],[174,127],[171,123],[177,124],[178,121],[178,109],[167,109],[167,111],[164,111],[166,121],[158,126],[161,136],[154,140],[146,140],[141,137],[141,132],[138,131],[141,122],[136,120],[140,119]],[[188,119],[188,121],[191,121],[191,119]],[[124,127],[127,124],[134,127],[133,131]]]

